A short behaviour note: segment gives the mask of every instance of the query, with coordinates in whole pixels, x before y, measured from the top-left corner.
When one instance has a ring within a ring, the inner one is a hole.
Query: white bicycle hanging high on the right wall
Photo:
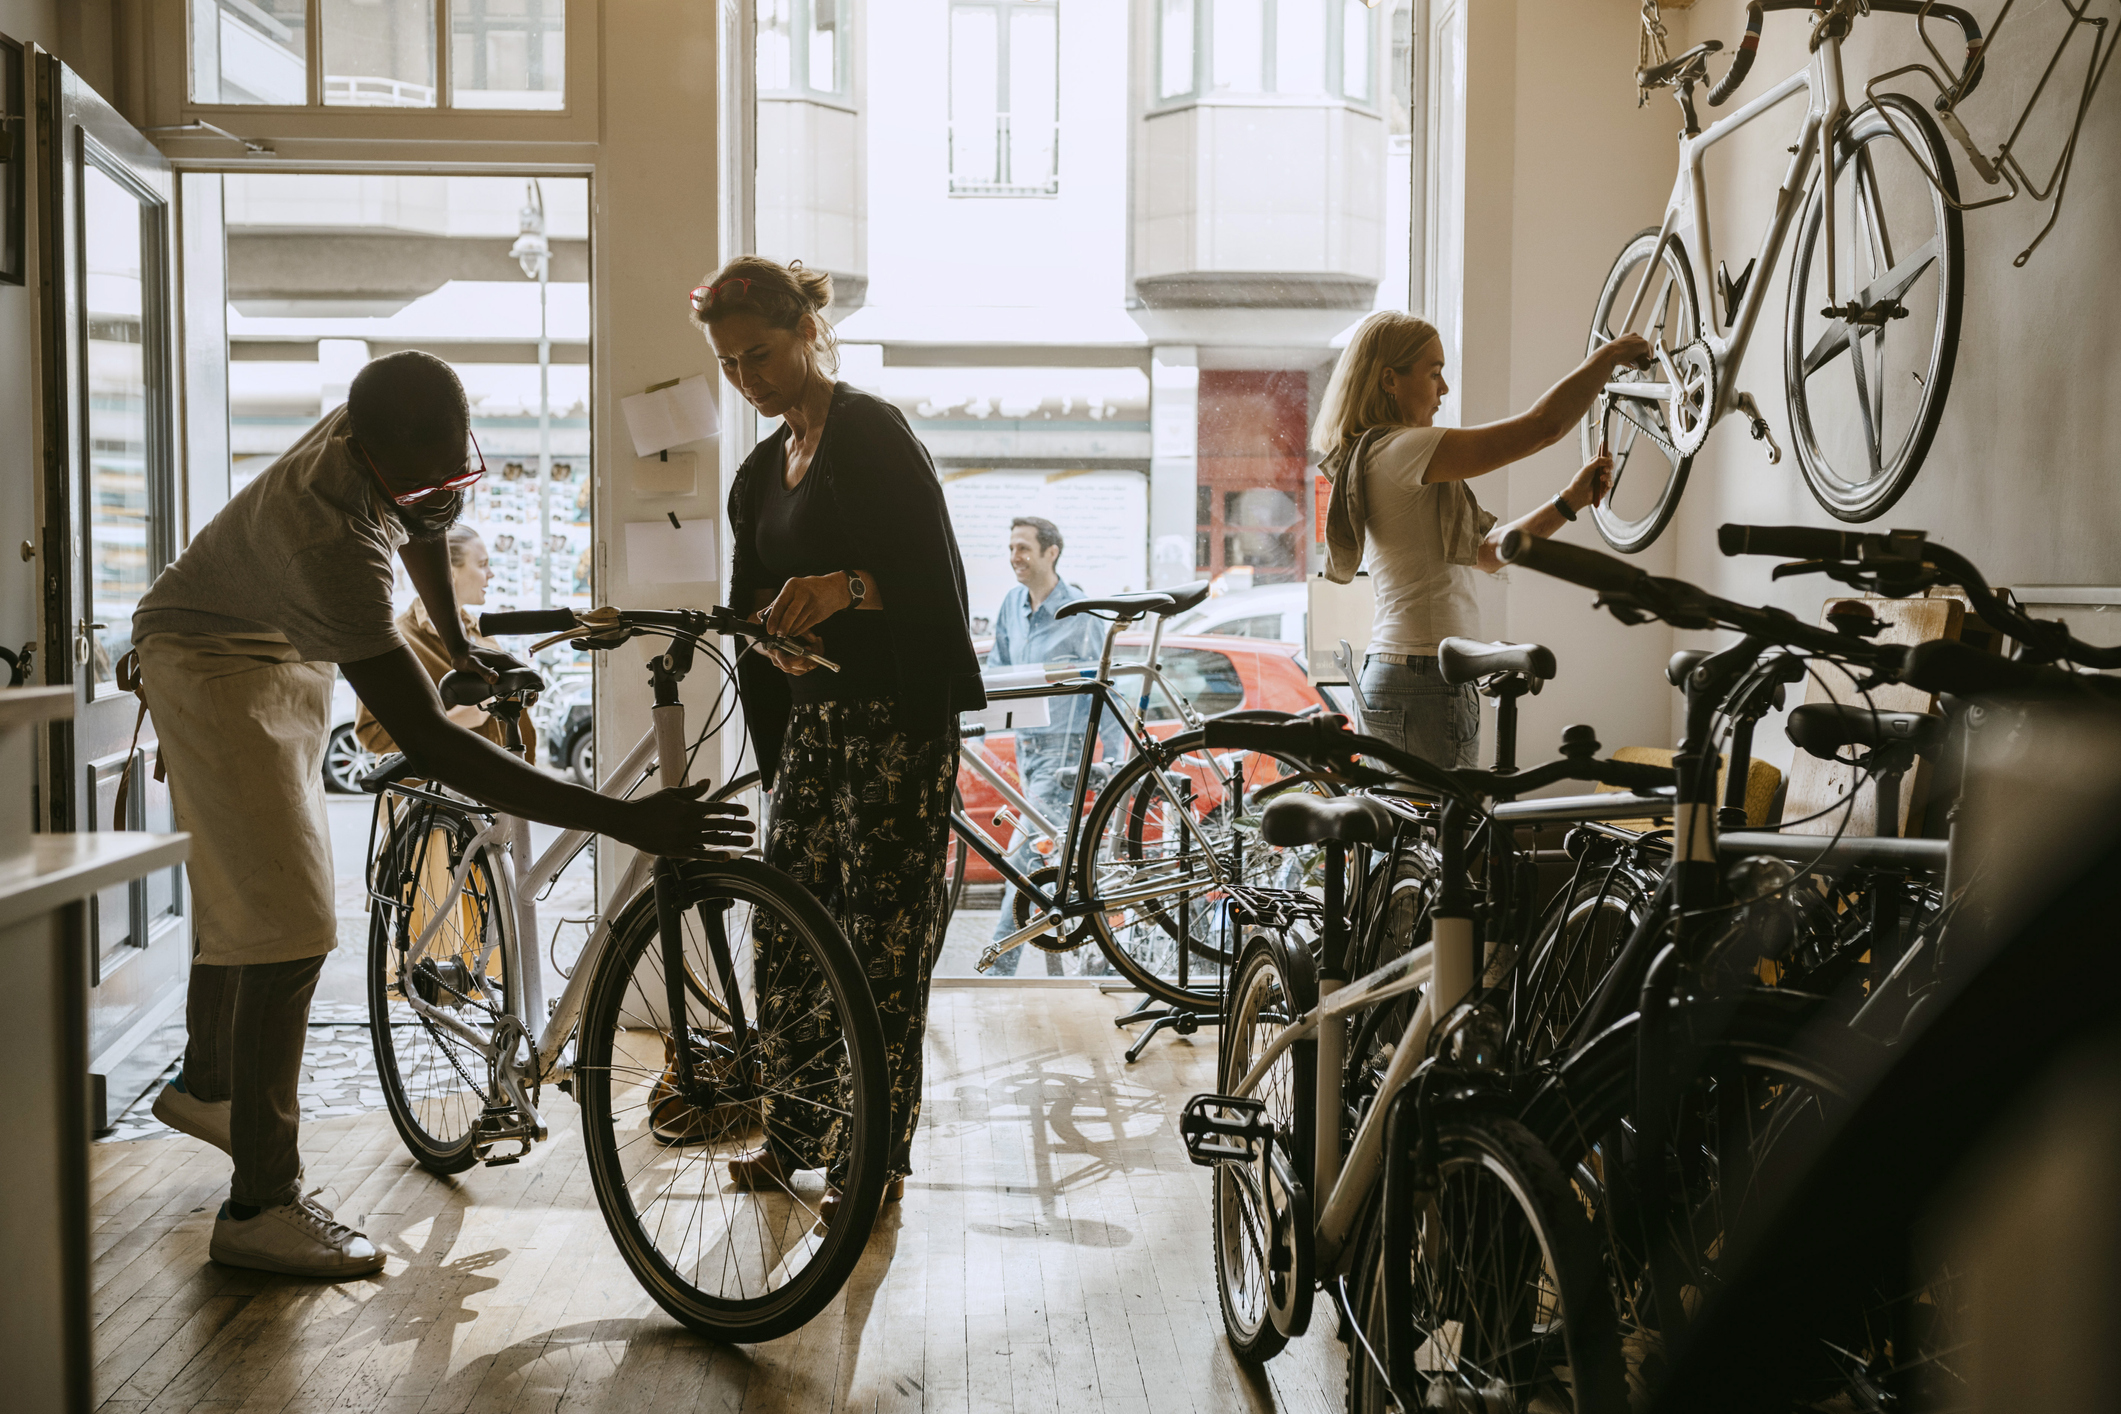
[[[1998,28],[2015,2],[2004,2]],[[2062,40],[1994,155],[1981,153],[1960,119],[1960,106],[1987,68],[1994,34],[1983,36],[1973,15],[1934,0],[1754,0],[1731,68],[1707,93],[1710,106],[1722,106],[1743,85],[1767,11],[1813,17],[1809,57],[1803,70],[1710,127],[1701,127],[1695,87],[1707,83],[1707,59],[1722,51],[1718,40],[1703,40],[1635,74],[1644,93],[1673,91],[1684,127],[1665,218],[1623,246],[1591,320],[1593,346],[1627,331],[1646,333],[1657,346],[1648,369],[1623,371],[1606,384],[1584,424],[1584,454],[1595,454],[1603,441],[1614,456],[1612,494],[1593,511],[1608,545],[1633,553],[1663,532],[1695,454],[1731,411],[1743,413],[1754,439],[1767,443],[1771,464],[1782,460],[1767,418],[1754,396],[1737,388],[1737,375],[1773,284],[1767,271],[1792,231],[1784,396],[1805,485],[1847,522],[1875,519],[1907,492],[1951,388],[1966,282],[1960,214],[2019,193],[2053,199],[2059,210],[2076,131],[2113,57],[2108,21],[2087,15],[2089,6],[2091,0],[2064,2],[2070,19]],[[1915,19],[1934,68],[1909,64],[1877,74],[1862,85],[1862,106],[1852,110],[1841,45],[1856,19],[1871,15]],[[1930,19],[1960,30],[1966,42],[1962,68],[1953,68],[1932,40]],[[2045,182],[2034,180],[2015,148],[2032,106],[2083,28],[2091,32],[2091,53],[2076,125],[2053,172]],[[1663,25],[1654,19],[1654,4],[1646,4],[1644,57],[1661,53]],[[1936,117],[1905,93],[1879,91],[1886,81],[1911,72],[1936,87]],[[1801,91],[1807,95],[1805,117],[1786,148],[1790,161],[1775,191],[1773,216],[1758,252],[1733,278],[1714,250],[1705,153]],[[1983,182],[2002,182],[2009,191],[1981,201],[1962,199],[1947,131]],[[2019,265],[2051,227],[2053,214],[2019,254]]]

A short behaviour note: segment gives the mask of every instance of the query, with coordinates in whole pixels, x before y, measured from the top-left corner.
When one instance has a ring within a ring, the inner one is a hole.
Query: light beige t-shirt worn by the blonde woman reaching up
[[[1362,460],[1364,562],[1377,591],[1372,653],[1434,657],[1444,638],[1480,636],[1474,570],[1451,564],[1444,551],[1444,502],[1466,490],[1423,479],[1442,439],[1440,426],[1400,428],[1377,439]]]

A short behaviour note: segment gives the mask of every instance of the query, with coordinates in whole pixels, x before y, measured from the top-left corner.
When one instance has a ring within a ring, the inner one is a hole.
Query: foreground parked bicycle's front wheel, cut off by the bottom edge
[[[1417,1181],[1417,1124],[1393,1117],[1381,1181],[1364,1344],[1404,1408],[1620,1414],[1627,1380],[1582,1202],[1525,1126],[1436,1119],[1432,1187]],[[1364,1270],[1357,1263],[1357,1270]],[[1400,1408],[1357,1348],[1349,1410]]]

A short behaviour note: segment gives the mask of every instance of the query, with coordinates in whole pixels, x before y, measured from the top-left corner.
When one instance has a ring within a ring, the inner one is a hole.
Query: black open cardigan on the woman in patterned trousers
[[[759,564],[753,543],[759,496],[768,477],[787,466],[787,424],[751,449],[730,488],[730,604],[751,613],[759,591],[778,594],[781,581]],[[942,481],[927,447],[906,416],[848,384],[834,384],[825,435],[806,477],[825,477],[840,528],[859,545],[861,564],[882,591],[884,628],[897,670],[897,721],[914,731],[948,731],[957,712],[986,706],[980,657],[971,651],[965,619],[965,566],[942,498]],[[817,668],[814,672],[825,672]],[[764,653],[747,653],[736,668],[744,693],[751,746],[759,753],[759,780],[774,782],[781,738],[787,733],[789,681]]]

